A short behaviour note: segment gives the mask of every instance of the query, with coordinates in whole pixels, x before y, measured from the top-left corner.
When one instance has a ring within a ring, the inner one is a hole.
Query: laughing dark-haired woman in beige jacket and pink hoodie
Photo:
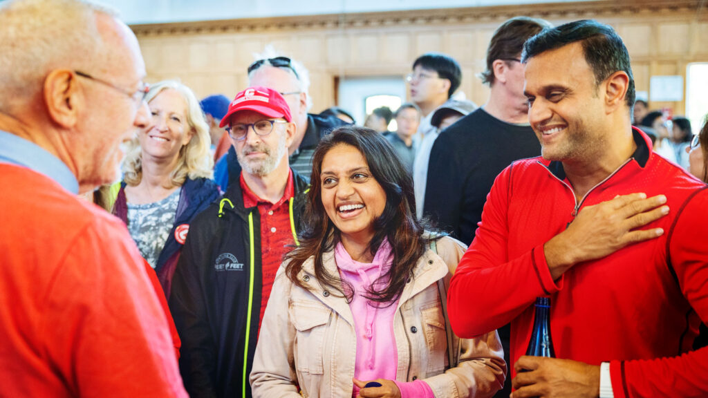
[[[447,322],[464,244],[424,231],[391,144],[339,127],[311,181],[300,246],[263,316],[253,397],[491,397],[506,373],[496,331],[457,339]]]

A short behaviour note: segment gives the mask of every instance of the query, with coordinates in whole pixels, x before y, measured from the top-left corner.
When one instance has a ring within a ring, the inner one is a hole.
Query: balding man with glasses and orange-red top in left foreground
[[[137,247],[77,196],[150,123],[135,35],[87,1],[5,1],[0,54],[1,394],[185,397]]]

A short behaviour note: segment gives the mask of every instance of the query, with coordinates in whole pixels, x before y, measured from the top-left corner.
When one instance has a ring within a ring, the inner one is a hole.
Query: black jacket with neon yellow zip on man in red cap
[[[292,175],[290,224],[299,231],[308,184]],[[251,397],[262,280],[261,217],[257,207],[244,208],[241,184],[232,183],[191,222],[172,280],[169,307],[190,397]]]

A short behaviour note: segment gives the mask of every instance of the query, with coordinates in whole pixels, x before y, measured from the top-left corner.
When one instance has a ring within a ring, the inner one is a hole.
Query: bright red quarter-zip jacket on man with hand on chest
[[[664,234],[551,278],[546,241],[573,221],[576,200],[559,162],[517,161],[496,179],[476,239],[448,295],[463,338],[511,322],[510,358],[525,353],[537,296],[552,299],[556,356],[610,362],[615,397],[708,396],[708,348],[690,351],[708,322],[708,191],[651,152],[634,132],[632,159],[593,188],[579,209],[616,195],[666,195],[670,212],[647,225]]]

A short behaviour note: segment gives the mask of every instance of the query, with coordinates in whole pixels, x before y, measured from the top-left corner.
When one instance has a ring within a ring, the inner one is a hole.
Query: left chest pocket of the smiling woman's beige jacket
[[[292,302],[290,309],[288,309],[288,315],[296,331],[293,342],[295,370],[321,375],[324,370],[325,332],[331,317],[331,310],[316,307],[316,305]]]

